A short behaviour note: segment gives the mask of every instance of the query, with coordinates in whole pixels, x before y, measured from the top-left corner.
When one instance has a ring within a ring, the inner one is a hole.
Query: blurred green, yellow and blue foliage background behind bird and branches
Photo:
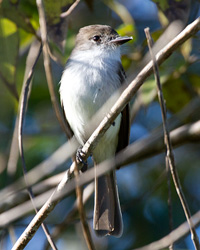
[[[152,37],[156,42],[165,32],[164,22],[158,18],[158,12],[166,15],[170,4],[181,4],[180,1],[81,1],[69,17],[62,20],[60,14],[66,11],[73,1],[44,1],[50,50],[57,58],[52,57],[52,72],[55,90],[59,98],[59,80],[64,64],[74,47],[75,36],[78,29],[88,24],[108,24],[113,26],[121,35],[132,35],[133,41],[125,47],[123,66],[129,75],[136,74],[141,68],[141,61],[147,53],[147,44],[143,29],[150,26]],[[136,3],[138,2],[138,3]],[[196,1],[197,2],[197,1]],[[138,4],[139,16],[133,3]],[[194,1],[192,2],[194,3]],[[147,4],[148,7],[147,7]],[[150,5],[151,4],[151,5]],[[149,7],[151,6],[151,8]],[[174,5],[173,5],[174,6]],[[178,6],[178,5],[177,5]],[[197,5],[195,5],[196,8]],[[199,7],[199,5],[198,5]],[[178,7],[177,7],[178,8]],[[147,12],[145,12],[147,10]],[[153,10],[156,10],[156,15]],[[193,12],[193,4],[189,15],[195,19],[199,14]],[[148,13],[148,14],[146,14]],[[153,14],[152,14],[153,13]],[[180,12],[179,12],[180,13]],[[199,12],[198,12],[199,13]],[[189,20],[189,19],[187,19]],[[170,22],[170,18],[167,19]],[[188,21],[186,21],[187,23]],[[13,138],[15,121],[18,113],[19,97],[26,69],[26,59],[30,45],[34,39],[39,39],[39,20],[35,1],[33,0],[2,0],[0,1],[0,186],[1,189],[14,183],[22,176],[21,161],[17,159],[17,167],[10,174],[8,160]],[[66,39],[67,38],[67,39]],[[66,39],[66,40],[65,40]],[[64,53],[62,53],[64,48]],[[169,59],[159,68],[163,93],[166,100],[169,116],[184,109],[200,94],[200,43],[199,33],[180,46]],[[156,84],[153,76],[149,77],[142,86],[134,101],[140,101],[132,125],[131,138],[138,139],[151,132],[152,128],[161,125],[161,115],[156,94]],[[134,105],[136,102],[133,101]],[[188,106],[190,107],[190,106]],[[200,118],[195,108],[190,117],[184,121],[194,122]],[[182,122],[179,123],[180,125]],[[37,63],[30,99],[24,126],[24,149],[27,168],[30,170],[50,156],[60,145],[66,141],[61,131],[50,101],[49,91],[41,56]],[[199,210],[199,149],[200,145],[189,144],[175,150],[176,162],[183,184],[185,196],[188,199],[192,214]],[[57,172],[66,169],[60,166]],[[169,232],[167,208],[167,180],[162,173],[165,168],[164,155],[152,157],[137,164],[118,171],[120,200],[123,209],[124,234],[122,238],[106,237],[97,239],[94,235],[97,249],[133,249],[150,243],[165,236]],[[48,173],[48,176],[55,175]],[[182,207],[172,188],[174,226],[177,227],[185,221]],[[52,213],[47,222],[53,230],[57,222],[62,222],[66,213],[73,205],[74,198],[62,201]],[[86,206],[89,221],[92,221],[93,199]],[[31,215],[32,218],[33,215]],[[25,229],[30,217],[25,217],[13,223],[18,237]],[[23,225],[23,226],[21,226]],[[1,249],[10,249],[11,242],[8,230],[0,232],[5,237]],[[26,249],[44,249],[41,242],[45,242],[40,231]],[[3,241],[2,241],[3,242]],[[40,242],[40,243],[38,243]],[[86,249],[81,236],[80,224],[77,217],[58,239],[59,249]],[[66,247],[67,246],[67,247]],[[182,239],[176,246],[180,249],[192,249],[189,237]]]

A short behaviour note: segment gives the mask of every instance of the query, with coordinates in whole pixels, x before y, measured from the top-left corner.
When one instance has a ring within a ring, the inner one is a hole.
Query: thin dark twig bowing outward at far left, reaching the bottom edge
[[[24,149],[23,149],[23,124],[24,124],[24,118],[25,118],[25,113],[26,113],[26,108],[27,108],[27,99],[28,99],[28,94],[29,94],[29,86],[30,86],[30,83],[31,83],[31,80],[32,80],[32,76],[33,76],[33,72],[34,72],[34,69],[35,69],[35,66],[37,64],[37,61],[40,57],[40,54],[42,52],[42,46],[41,44],[39,43],[39,46],[38,46],[38,52],[36,53],[35,55],[35,60],[33,62],[33,65],[30,69],[30,72],[27,76],[27,80],[26,80],[26,83],[24,85],[24,88],[23,88],[23,93],[22,93],[22,98],[20,100],[20,112],[19,112],[19,125],[18,125],[18,140],[19,140],[19,152],[20,152],[20,156],[21,156],[21,159],[22,159],[22,169],[23,169],[23,173],[24,173],[24,180],[25,180],[25,183],[26,183],[26,186],[27,186],[27,191],[28,191],[28,194],[29,194],[29,197],[30,197],[30,200],[32,202],[32,205],[34,207],[34,210],[35,212],[37,213],[38,210],[34,204],[34,194],[32,192],[32,188],[29,186],[28,182],[27,182],[27,179],[26,179],[26,174],[27,174],[27,168],[26,168],[26,163],[25,163],[25,157],[24,157]],[[49,234],[49,230],[47,228],[47,226],[42,223],[42,228],[44,230],[44,233],[49,241],[49,244],[51,245],[51,247],[56,250],[56,246],[53,242],[53,240],[51,239],[51,236]]]

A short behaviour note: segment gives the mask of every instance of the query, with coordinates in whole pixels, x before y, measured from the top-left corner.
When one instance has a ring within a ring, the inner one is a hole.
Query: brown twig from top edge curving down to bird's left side
[[[67,137],[71,138],[71,131],[67,127],[67,124],[63,118],[61,111],[60,111],[57,97],[56,97],[55,90],[54,90],[53,76],[51,73],[52,72],[51,71],[51,62],[50,62],[50,57],[49,57],[49,53],[48,53],[49,46],[48,46],[48,41],[47,41],[47,26],[46,26],[45,11],[44,11],[43,2],[42,2],[42,0],[37,0],[36,4],[37,4],[37,8],[38,8],[38,13],[39,13],[41,39],[42,39],[42,44],[43,44],[44,68],[45,68],[49,93],[51,96],[51,102],[53,104],[53,108],[54,108],[56,117],[59,121],[61,128],[63,129],[63,131],[65,132]]]

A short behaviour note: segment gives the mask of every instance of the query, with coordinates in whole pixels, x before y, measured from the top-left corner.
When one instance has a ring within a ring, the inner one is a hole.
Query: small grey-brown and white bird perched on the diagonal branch
[[[61,78],[60,96],[66,119],[81,145],[93,132],[88,124],[96,113],[97,127],[119,97],[119,89],[125,82],[120,45],[131,39],[119,36],[107,25],[83,27],[76,37]],[[128,145],[129,126],[127,105],[95,147],[92,153],[95,168]],[[120,237],[123,222],[114,170],[95,178],[94,203],[96,234]]]

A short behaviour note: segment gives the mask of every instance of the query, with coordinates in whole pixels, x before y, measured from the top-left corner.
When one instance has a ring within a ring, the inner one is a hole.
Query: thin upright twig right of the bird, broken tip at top
[[[193,225],[193,222],[191,220],[191,213],[189,210],[189,206],[187,204],[186,198],[184,196],[184,193],[182,191],[182,187],[181,187],[181,183],[180,183],[180,179],[178,176],[178,172],[175,166],[175,160],[174,160],[174,155],[173,155],[173,150],[172,150],[172,145],[171,145],[171,140],[170,140],[170,136],[169,136],[169,130],[168,130],[168,125],[167,125],[167,112],[166,112],[166,106],[165,106],[165,101],[164,101],[164,97],[163,97],[163,93],[162,93],[162,86],[160,83],[160,78],[159,78],[159,70],[158,70],[158,64],[156,62],[156,58],[155,55],[152,52],[152,39],[149,33],[149,28],[145,29],[145,34],[147,37],[147,42],[148,42],[148,47],[149,47],[149,51],[153,60],[153,70],[154,70],[154,76],[156,79],[156,83],[157,83],[157,89],[158,89],[158,99],[160,102],[160,107],[161,107],[161,113],[162,113],[162,120],[163,120],[163,131],[164,131],[164,142],[165,142],[165,146],[166,146],[166,154],[167,154],[167,160],[169,163],[169,167],[171,170],[171,175],[172,175],[172,179],[176,188],[176,192],[179,196],[180,202],[182,204],[186,219],[188,221],[189,227],[190,227],[190,231],[191,231],[191,238],[193,241],[193,244],[195,246],[196,250],[200,249],[200,245],[199,245],[199,239],[195,230],[195,227]]]

